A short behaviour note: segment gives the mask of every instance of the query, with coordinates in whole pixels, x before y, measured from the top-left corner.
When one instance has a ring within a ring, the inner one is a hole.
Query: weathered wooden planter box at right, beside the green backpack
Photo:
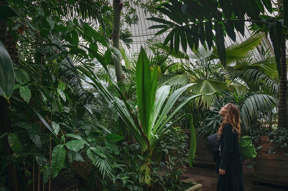
[[[278,147],[275,154],[269,154],[269,148],[274,144],[268,139],[268,136],[261,136],[255,144],[255,147],[262,146],[262,148],[256,150],[254,181],[288,186],[288,156],[285,155],[287,150]]]

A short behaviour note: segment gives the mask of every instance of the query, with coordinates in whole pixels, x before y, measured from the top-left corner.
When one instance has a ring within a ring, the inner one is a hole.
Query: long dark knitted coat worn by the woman
[[[214,154],[216,172],[219,168],[225,169],[226,174],[219,175],[217,190],[219,191],[243,191],[243,166],[240,154],[238,133],[234,131],[230,123],[223,127],[223,134],[220,137],[220,153]]]

